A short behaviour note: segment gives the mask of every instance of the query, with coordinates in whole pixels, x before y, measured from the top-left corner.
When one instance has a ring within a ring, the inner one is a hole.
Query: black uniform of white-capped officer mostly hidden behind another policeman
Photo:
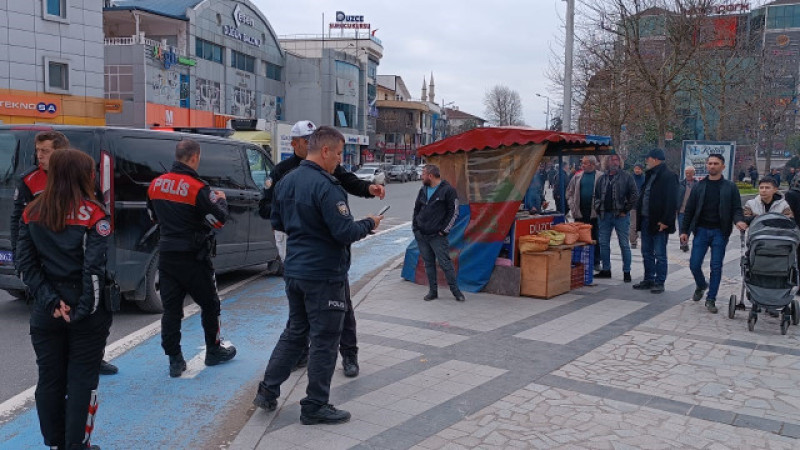
[[[303,161],[303,158],[292,154],[291,157],[279,162],[270,173],[270,185],[264,191],[259,205],[261,216],[269,219],[270,211],[272,209],[273,191],[278,182],[286,176],[287,173],[296,169],[297,166]],[[348,194],[357,197],[373,198],[374,195],[370,194],[369,187],[372,183],[359,179],[354,173],[346,170],[342,165],[336,166],[333,171],[333,176],[339,181],[339,184],[347,191]],[[343,359],[356,358],[358,356],[358,339],[356,338],[356,315],[353,310],[353,302],[350,299],[350,282],[345,280],[345,299],[347,301],[347,313],[344,316],[344,328],[342,329],[342,339],[339,343],[339,353]],[[288,322],[287,322],[288,326]]]

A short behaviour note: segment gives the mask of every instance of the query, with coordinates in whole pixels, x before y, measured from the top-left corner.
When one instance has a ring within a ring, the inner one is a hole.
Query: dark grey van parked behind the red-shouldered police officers
[[[35,164],[34,136],[57,130],[70,145],[92,156],[114,224],[108,269],[126,300],[148,312],[162,310],[158,292],[158,227],[146,210],[150,182],[167,172],[182,139],[200,144],[198,173],[212,189],[225,192],[230,219],[217,233],[217,273],[269,263],[280,270],[272,227],[258,215],[264,183],[273,168],[261,147],[231,139],[198,134],[142,129],[5,125],[0,126],[0,215],[11,217],[19,175]],[[25,286],[14,273],[10,222],[0,220],[0,289],[17,297]]]

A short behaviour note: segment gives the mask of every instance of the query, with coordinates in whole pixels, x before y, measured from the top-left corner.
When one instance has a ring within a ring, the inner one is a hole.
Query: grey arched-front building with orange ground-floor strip
[[[225,127],[283,119],[285,54],[248,0],[112,0],[103,10],[109,124]]]

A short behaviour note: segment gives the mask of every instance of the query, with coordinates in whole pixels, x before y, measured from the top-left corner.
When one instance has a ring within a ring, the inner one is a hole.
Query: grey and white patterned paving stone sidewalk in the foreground
[[[751,333],[745,313],[724,314],[741,289],[738,236],[717,315],[690,299],[677,237],[669,255],[661,295],[623,283],[614,254],[615,278],[594,286],[466,303],[446,290],[424,302],[395,263],[354,299],[361,374],[337,368],[331,390],[352,420],[301,425],[296,372],[278,411],[254,411],[230,448],[800,448],[800,328],[782,336],[761,315]]]

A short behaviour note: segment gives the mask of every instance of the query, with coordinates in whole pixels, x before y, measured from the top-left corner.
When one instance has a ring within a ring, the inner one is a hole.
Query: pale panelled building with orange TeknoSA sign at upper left
[[[104,125],[98,1],[0,0],[0,123]]]

